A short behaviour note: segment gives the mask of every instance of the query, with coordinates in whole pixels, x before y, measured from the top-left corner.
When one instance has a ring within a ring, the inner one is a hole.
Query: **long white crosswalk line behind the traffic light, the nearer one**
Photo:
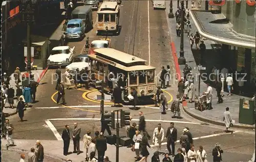
[[[100,120],[100,118],[55,118],[55,119],[48,119],[48,120]],[[115,119],[117,120],[117,119]],[[139,121],[139,119],[132,119],[132,121]],[[145,120],[148,122],[164,122],[164,123],[169,123],[169,122],[174,122],[174,123],[185,123],[185,124],[196,124],[196,125],[201,125],[200,123],[192,123],[192,122],[185,122],[185,121],[172,121],[172,120]]]

